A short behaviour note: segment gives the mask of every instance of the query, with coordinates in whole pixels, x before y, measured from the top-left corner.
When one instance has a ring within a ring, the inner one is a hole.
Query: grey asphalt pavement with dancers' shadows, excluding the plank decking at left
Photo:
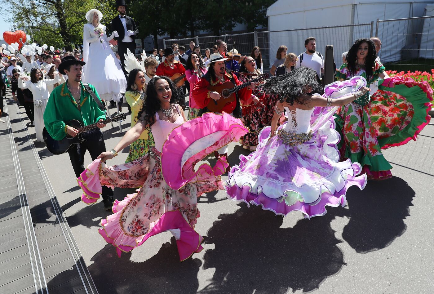
[[[127,116],[124,133],[129,125]],[[103,129],[107,150],[123,135],[117,126]],[[200,197],[195,229],[206,240],[204,250],[183,262],[168,232],[118,258],[98,233],[109,215],[102,202],[81,202],[68,154],[49,153],[29,129],[99,293],[434,293],[432,124],[417,142],[383,151],[393,178],[368,181],[363,191],[350,188],[348,205],[322,217],[275,216],[237,204],[224,191]],[[247,153],[230,144],[230,164]],[[128,148],[109,164],[127,155]],[[115,188],[115,198],[132,192]]]

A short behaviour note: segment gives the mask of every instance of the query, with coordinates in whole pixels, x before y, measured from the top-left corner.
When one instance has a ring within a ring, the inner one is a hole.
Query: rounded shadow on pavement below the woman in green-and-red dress
[[[404,219],[410,215],[415,192],[403,179],[368,181],[363,191],[348,193],[350,218],[342,237],[358,253],[379,250],[404,234]]]

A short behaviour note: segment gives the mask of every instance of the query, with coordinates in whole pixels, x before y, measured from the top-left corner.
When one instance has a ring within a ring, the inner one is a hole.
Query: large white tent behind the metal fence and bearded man
[[[323,0],[300,2],[278,0],[267,9],[268,27],[270,31],[293,30],[270,33],[270,56],[280,45],[286,45],[288,52],[305,51],[304,40],[309,36],[316,37],[317,51],[324,53],[325,45],[334,46],[336,66],[342,64],[341,54],[358,38],[369,38],[375,34],[376,20],[388,20],[407,17],[419,17],[424,14],[427,3],[434,1],[409,0]],[[373,22],[373,26],[371,26]],[[343,26],[363,24],[359,26]],[[380,51],[382,62],[396,61],[401,58],[401,49],[409,45],[408,22],[399,25],[381,23],[378,37],[383,43]],[[327,28],[320,28],[325,27]],[[330,28],[329,26],[335,26]],[[305,29],[315,28],[315,29]],[[297,30],[304,29],[304,30]],[[413,28],[411,28],[413,30]],[[391,31],[393,30],[393,32]],[[271,58],[270,58],[271,59]]]

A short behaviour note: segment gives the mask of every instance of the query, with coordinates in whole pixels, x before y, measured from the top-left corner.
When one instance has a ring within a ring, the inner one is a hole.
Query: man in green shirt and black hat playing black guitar
[[[105,113],[99,109],[98,104],[86,92],[81,82],[82,66],[84,65],[85,62],[76,59],[74,56],[66,56],[59,65],[59,73],[68,75],[68,80],[53,89],[44,112],[45,128],[55,140],[62,140],[66,134],[72,137],[78,135],[79,131],[77,129],[66,125],[66,122],[72,119],[82,122],[84,126],[97,123],[99,129],[105,127],[105,124],[101,122],[105,119]],[[89,85],[89,87],[100,99],[95,87],[92,85]],[[77,178],[85,170],[84,156],[86,150],[89,151],[92,160],[105,152],[104,138],[99,129],[93,129],[82,134],[85,141],[74,145],[68,152]],[[112,196],[112,189],[102,186],[102,199],[104,208],[107,210],[112,209],[114,202]]]

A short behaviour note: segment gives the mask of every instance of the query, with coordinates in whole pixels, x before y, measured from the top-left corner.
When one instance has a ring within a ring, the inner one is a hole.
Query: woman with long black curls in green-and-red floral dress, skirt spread
[[[375,60],[375,44],[369,39],[355,41],[346,60],[337,70],[339,80],[363,76],[368,86],[378,79],[379,90],[345,105],[336,115],[336,129],[341,133],[342,159],[362,165],[368,178],[390,178],[392,166],[381,149],[405,144],[415,139],[429,122],[432,89],[426,82],[407,78],[389,78],[385,67]]]

